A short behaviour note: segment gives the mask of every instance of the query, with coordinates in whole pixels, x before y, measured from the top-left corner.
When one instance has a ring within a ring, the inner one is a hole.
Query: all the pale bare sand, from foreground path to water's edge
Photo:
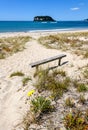
[[[46,48],[38,42],[38,38],[41,36],[68,32],[79,31],[41,31],[0,34],[0,38],[15,36],[32,37],[32,39],[26,43],[23,51],[14,53],[5,59],[0,59],[0,130],[24,130],[22,127],[18,128],[17,126],[22,122],[25,113],[29,110],[30,104],[27,103],[27,92],[35,89],[32,80],[29,81],[26,87],[23,87],[23,77],[10,77],[13,72],[21,71],[25,76],[32,78],[35,68],[31,68],[30,63],[59,54],[66,54],[67,56],[62,59],[62,63],[65,61],[67,61],[67,63],[58,67],[58,69],[60,68],[66,71],[67,75],[72,79],[82,80],[83,76],[80,74],[80,70],[88,66],[88,58],[82,58],[82,56],[77,56],[70,51]],[[88,30],[80,30],[80,32],[88,32]],[[86,40],[88,41],[88,39]],[[52,67],[53,65],[57,65],[57,61],[42,65],[42,67]],[[87,92],[85,97],[88,100]],[[88,107],[88,103],[86,107]]]

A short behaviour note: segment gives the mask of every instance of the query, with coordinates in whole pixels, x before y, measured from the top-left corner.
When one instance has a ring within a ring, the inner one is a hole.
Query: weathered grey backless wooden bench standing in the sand
[[[59,59],[58,66],[61,66],[61,59],[63,57],[66,57],[66,55],[65,54],[57,55],[57,56],[54,56],[54,57],[51,57],[51,58],[47,58],[47,59],[44,59],[44,60],[41,60],[41,61],[37,61],[37,62],[31,63],[30,65],[31,65],[32,68],[36,67],[38,69],[39,65],[42,65],[42,64],[45,64],[45,63],[48,63],[48,62],[51,62],[51,61]]]

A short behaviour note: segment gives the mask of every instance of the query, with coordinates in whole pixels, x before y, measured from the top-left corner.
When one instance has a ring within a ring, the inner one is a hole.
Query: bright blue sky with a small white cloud
[[[88,0],[0,0],[1,20],[33,20],[49,15],[57,21],[88,18]]]

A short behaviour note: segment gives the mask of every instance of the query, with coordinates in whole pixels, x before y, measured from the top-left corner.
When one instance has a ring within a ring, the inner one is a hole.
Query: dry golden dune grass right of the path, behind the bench
[[[84,40],[83,40],[84,39]],[[63,33],[40,37],[39,42],[47,48],[71,51],[78,56],[88,58],[88,32]]]

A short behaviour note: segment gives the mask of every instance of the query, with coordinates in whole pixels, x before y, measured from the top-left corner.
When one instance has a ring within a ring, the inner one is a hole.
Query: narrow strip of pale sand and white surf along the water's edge
[[[14,37],[14,36],[34,36],[34,35],[50,35],[50,34],[58,34],[58,33],[76,33],[76,32],[88,32],[88,29],[72,29],[72,30],[37,30],[37,31],[27,31],[27,32],[0,32],[0,38],[2,37]]]

